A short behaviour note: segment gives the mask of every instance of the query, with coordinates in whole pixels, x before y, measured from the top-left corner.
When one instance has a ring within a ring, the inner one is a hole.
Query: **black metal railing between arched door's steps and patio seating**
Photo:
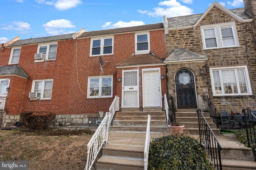
[[[218,121],[217,121],[217,114],[216,114],[217,107],[214,106],[214,104],[212,103],[212,101],[208,96],[204,96],[203,100],[204,100],[204,112],[209,112],[210,117],[212,117],[213,119],[213,122],[215,122],[217,125],[217,128],[219,128]]]

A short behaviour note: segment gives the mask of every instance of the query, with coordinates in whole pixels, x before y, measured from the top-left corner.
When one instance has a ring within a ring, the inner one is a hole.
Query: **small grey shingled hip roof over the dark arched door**
[[[164,60],[166,61],[186,61],[186,60],[197,60],[197,59],[208,59],[204,55],[188,51],[186,49],[174,49],[172,53]]]

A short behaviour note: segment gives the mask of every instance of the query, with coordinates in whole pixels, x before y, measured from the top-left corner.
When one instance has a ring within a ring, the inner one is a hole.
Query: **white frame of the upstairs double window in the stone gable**
[[[222,34],[221,34],[221,28],[223,27],[231,27],[232,28],[232,33],[234,37],[234,45],[230,46],[224,46],[223,41],[222,41]],[[201,26],[201,35],[202,35],[202,44],[203,44],[203,49],[218,49],[218,48],[228,48],[228,47],[239,47],[239,41],[238,41],[238,35],[236,31],[236,23],[235,22],[230,22],[230,23],[222,23],[222,24],[213,24],[213,25],[206,25],[206,26]],[[204,37],[204,30],[205,29],[214,29],[215,37],[216,37],[216,43],[217,47],[206,47],[206,42],[205,42],[205,37]]]

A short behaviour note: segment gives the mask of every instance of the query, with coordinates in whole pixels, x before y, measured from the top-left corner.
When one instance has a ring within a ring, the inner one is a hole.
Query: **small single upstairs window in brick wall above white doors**
[[[135,52],[150,51],[149,33],[135,34]]]

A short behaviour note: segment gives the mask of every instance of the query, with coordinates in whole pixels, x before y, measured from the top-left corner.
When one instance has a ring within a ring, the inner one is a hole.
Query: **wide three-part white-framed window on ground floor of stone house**
[[[247,66],[210,68],[213,96],[252,94]]]

